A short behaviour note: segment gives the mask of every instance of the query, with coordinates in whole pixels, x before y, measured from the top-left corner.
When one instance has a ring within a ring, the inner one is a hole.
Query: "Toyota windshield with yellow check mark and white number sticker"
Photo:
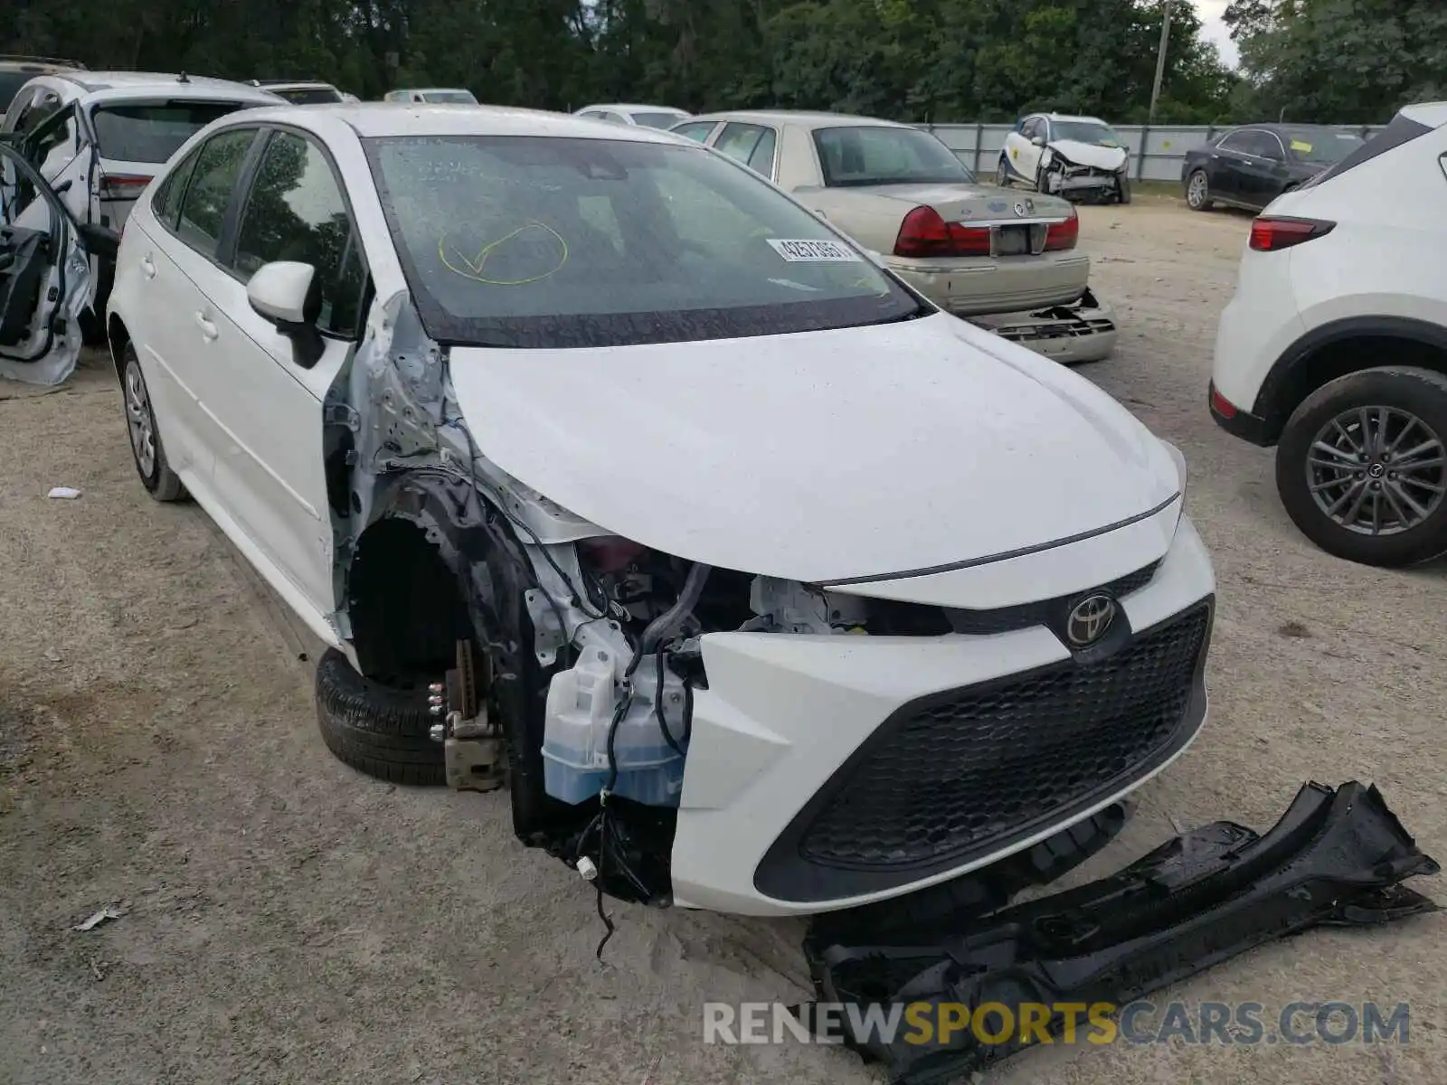
[[[767,181],[697,146],[544,136],[366,140],[433,339],[598,347],[922,315]]]

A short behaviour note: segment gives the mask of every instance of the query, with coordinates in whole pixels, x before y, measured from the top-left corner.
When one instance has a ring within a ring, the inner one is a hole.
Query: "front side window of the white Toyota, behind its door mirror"
[[[272,135],[242,210],[236,272],[249,281],[272,260],[315,268],[324,331],[352,334],[362,302],[360,253],[352,217],[321,149],[291,132]]]

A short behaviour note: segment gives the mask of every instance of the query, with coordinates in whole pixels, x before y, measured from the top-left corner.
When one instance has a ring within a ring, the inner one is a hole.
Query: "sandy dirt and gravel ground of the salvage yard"
[[[1121,339],[1081,372],[1185,451],[1220,580],[1210,723],[1082,874],[1174,825],[1266,827],[1308,778],[1375,781],[1447,855],[1443,567],[1315,551],[1270,454],[1205,409],[1247,218],[1142,198],[1082,220]],[[805,994],[799,923],[611,906],[599,965],[592,895],[512,839],[502,794],[331,760],[315,647],[197,508],[145,496],[106,365],[48,395],[0,382],[0,1082],[880,1081],[838,1049],[702,1043],[705,1000]],[[123,916],[72,930],[107,904]],[[987,1079],[1447,1081],[1443,933],[1315,932],[1156,1000],[1257,1001],[1269,1023],[1295,1000],[1405,1001],[1406,1046],[1053,1047]]]

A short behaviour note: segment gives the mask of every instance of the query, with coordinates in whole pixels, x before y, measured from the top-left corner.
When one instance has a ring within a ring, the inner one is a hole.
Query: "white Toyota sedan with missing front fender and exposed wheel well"
[[[1179,453],[689,140],[226,117],[130,214],[110,339],[146,489],[331,645],[333,752],[506,786],[602,893],[920,890],[1205,719]]]

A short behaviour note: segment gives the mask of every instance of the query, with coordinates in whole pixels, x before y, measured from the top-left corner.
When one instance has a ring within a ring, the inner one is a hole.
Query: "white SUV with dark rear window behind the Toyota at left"
[[[217,117],[282,98],[259,87],[185,74],[67,71],[38,75],[6,110],[0,132],[19,133],[35,165],[81,226],[119,231],[166,159]],[[87,341],[104,341],[98,314],[114,276],[93,255],[96,295],[81,311]]]

